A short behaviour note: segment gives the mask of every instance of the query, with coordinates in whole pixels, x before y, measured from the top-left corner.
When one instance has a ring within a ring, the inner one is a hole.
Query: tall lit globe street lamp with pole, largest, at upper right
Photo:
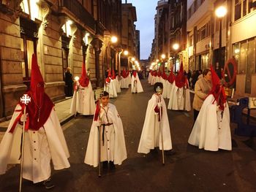
[[[216,62],[216,70],[217,70],[217,74],[221,75],[221,67],[222,64],[220,62],[221,58],[222,58],[222,18],[225,17],[225,15],[227,14],[227,8],[224,6],[219,6],[216,10],[215,10],[215,15],[217,16],[217,18],[219,18],[219,51],[218,51],[218,60]]]

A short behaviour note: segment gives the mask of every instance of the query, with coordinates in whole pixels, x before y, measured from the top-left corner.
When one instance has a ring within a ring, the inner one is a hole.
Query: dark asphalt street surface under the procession
[[[97,168],[83,164],[92,116],[73,118],[63,126],[71,167],[53,171],[56,187],[50,191],[256,191],[256,153],[244,144],[248,138],[233,135],[237,146],[232,151],[209,152],[188,145],[192,112],[168,110],[173,153],[165,155],[164,166],[160,151],[137,153],[147,102],[153,93],[146,80],[142,84],[144,93],[123,89],[117,99],[110,99],[124,125],[127,160],[114,171],[104,170],[99,178]],[[234,128],[232,124],[232,134]],[[0,191],[18,191],[19,170],[15,166],[0,176]],[[46,189],[24,181],[23,191]]]

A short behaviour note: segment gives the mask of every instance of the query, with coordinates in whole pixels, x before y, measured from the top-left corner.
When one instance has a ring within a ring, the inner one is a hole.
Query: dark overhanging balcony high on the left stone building
[[[94,17],[79,3],[78,0],[61,0],[59,1],[60,13],[75,15],[83,24],[95,31]]]

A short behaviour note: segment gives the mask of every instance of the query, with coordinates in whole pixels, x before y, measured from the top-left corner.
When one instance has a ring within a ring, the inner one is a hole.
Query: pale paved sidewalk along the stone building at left
[[[96,99],[99,97],[99,93],[101,91],[103,91],[103,88],[97,88],[96,90],[94,90]],[[61,126],[64,125],[64,123],[67,123],[67,121],[74,118],[74,115],[69,114],[71,101],[72,101],[72,97],[67,97],[64,100],[57,101],[55,103],[54,108],[59,118],[59,122],[61,123]],[[9,123],[10,123],[10,120],[0,122],[0,142],[1,142],[1,139],[4,137],[4,133],[7,130]]]

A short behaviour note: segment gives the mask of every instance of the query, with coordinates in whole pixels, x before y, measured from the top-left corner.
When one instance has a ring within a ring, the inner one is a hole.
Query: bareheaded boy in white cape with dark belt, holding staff
[[[108,168],[109,163],[110,169],[115,169],[115,164],[121,165],[127,158],[127,150],[121,118],[109,100],[108,92],[103,91],[94,113],[84,163],[96,167],[100,158],[103,168]]]

